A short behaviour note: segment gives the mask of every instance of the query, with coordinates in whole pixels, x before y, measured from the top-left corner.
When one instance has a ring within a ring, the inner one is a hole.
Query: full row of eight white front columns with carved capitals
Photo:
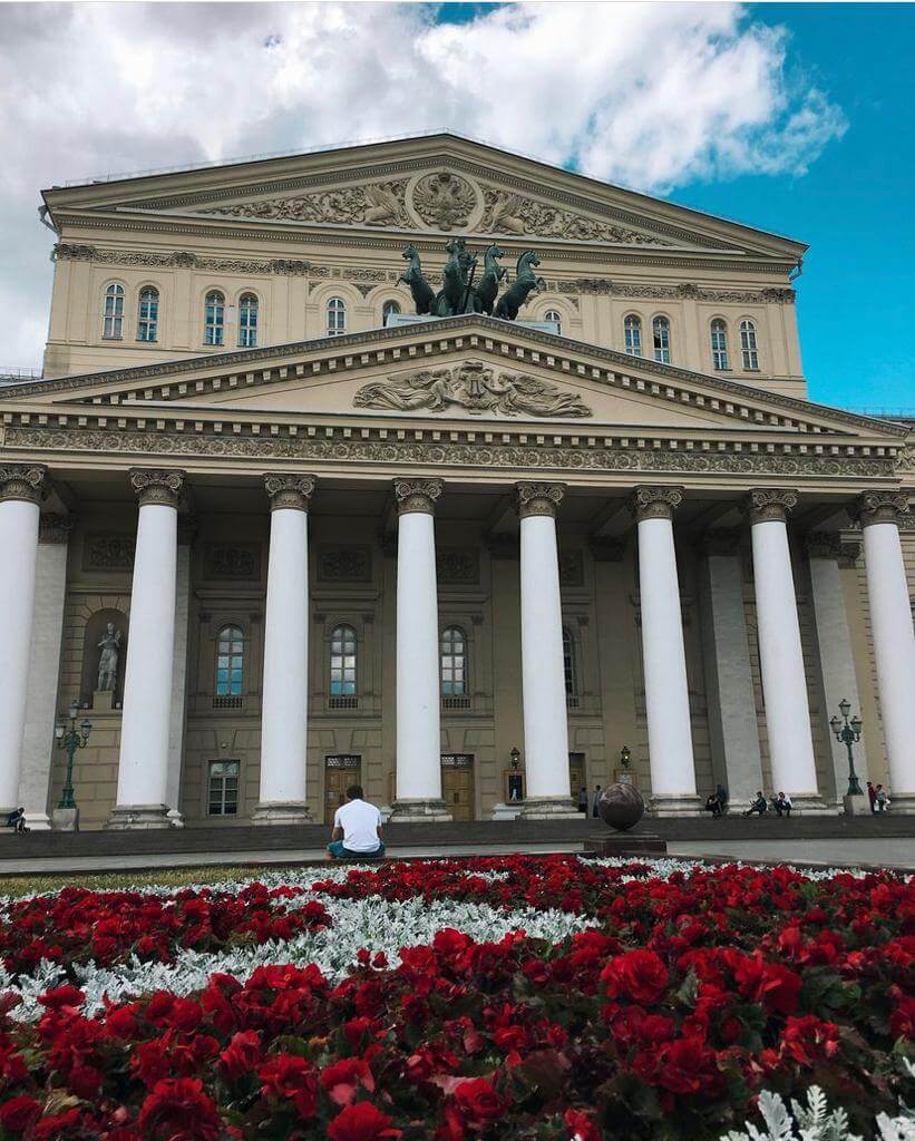
[[[175,656],[181,472],[130,472],[139,516],[121,725],[118,800],[111,827],[168,826],[169,735]],[[26,717],[42,466],[0,468],[0,597],[6,671],[0,687],[0,810],[16,804]],[[258,823],[307,818],[308,510],[313,476],[265,476],[270,501]],[[564,486],[516,485],[520,524],[521,689],[527,798],[524,812],[573,812],[562,663],[557,511]],[[448,819],[442,800],[435,510],[438,479],[394,482],[397,541],[397,727],[394,818]],[[659,815],[696,811],[689,694],[673,518],[683,489],[633,489],[651,802]],[[772,783],[796,807],[821,810],[807,699],[787,518],[796,492],[756,488],[744,503],[753,552],[759,649]],[[890,784],[897,810],[915,810],[915,636],[899,536],[908,510],[897,491],[856,501],[864,529]]]

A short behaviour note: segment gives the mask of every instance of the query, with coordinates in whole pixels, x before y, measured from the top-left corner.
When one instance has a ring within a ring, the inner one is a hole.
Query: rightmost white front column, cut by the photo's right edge
[[[908,513],[900,492],[865,492],[858,501],[877,665],[880,712],[890,767],[891,811],[915,812],[915,636],[899,518]]]

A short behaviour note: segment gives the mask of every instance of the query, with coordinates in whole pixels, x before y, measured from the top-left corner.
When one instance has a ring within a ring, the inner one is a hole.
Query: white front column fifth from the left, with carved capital
[[[556,512],[561,484],[518,484],[521,529],[521,697],[527,787],[521,815],[576,816],[568,775],[568,714]]]

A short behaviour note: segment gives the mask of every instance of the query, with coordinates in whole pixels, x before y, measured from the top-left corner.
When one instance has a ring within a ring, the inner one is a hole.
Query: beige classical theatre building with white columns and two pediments
[[[82,828],[836,812],[848,699],[915,809],[915,424],[808,400],[802,243],[451,135],[43,199],[0,808],[75,702]]]

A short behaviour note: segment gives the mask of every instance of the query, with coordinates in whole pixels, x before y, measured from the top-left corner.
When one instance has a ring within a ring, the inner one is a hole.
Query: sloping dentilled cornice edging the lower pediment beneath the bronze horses
[[[463,335],[462,335],[463,334]],[[411,343],[412,341],[412,343]],[[526,343],[519,343],[526,342]],[[372,351],[365,351],[371,346]],[[363,351],[358,351],[363,349]],[[824,430],[812,423],[825,419],[832,424],[845,424],[872,435],[894,437],[900,442],[908,435],[904,424],[876,420],[844,410],[831,408],[797,397],[751,388],[736,381],[690,372],[675,365],[664,365],[645,357],[631,357],[615,349],[574,341],[567,337],[556,337],[536,329],[521,327],[512,322],[499,321],[479,314],[443,317],[435,322],[416,325],[397,325],[388,329],[348,333],[343,337],[325,337],[311,341],[293,341],[289,345],[267,346],[259,349],[241,349],[209,356],[186,357],[132,369],[114,369],[100,373],[83,373],[78,377],[60,377],[55,380],[37,381],[5,388],[0,394],[0,407],[6,398],[31,398],[40,394],[79,393],[81,389],[99,385],[115,388],[120,397],[124,391],[140,394],[137,398],[170,400],[186,399],[188,395],[207,391],[237,390],[254,385],[342,374],[379,364],[404,367],[418,359],[429,361],[436,356],[455,351],[494,353],[511,361],[513,367],[521,364],[545,369],[559,377],[580,377],[622,391],[655,396],[669,404],[693,410],[732,416],[760,428],[790,428],[821,435]],[[325,356],[322,359],[314,357]],[[289,358],[310,355],[308,363],[299,363],[290,370]],[[584,359],[582,359],[584,358]],[[599,361],[612,367],[598,367],[585,361]],[[272,362],[264,367],[265,362]],[[197,370],[225,370],[224,375],[210,375],[195,380]],[[258,373],[260,375],[258,377]],[[646,373],[643,379],[633,373]],[[187,382],[170,383],[169,378],[187,375]],[[164,381],[164,383],[163,383]],[[678,383],[679,382],[679,383]],[[710,391],[696,391],[696,388]],[[148,393],[148,397],[145,395]],[[86,398],[108,405],[116,404],[107,394],[96,394]],[[763,412],[759,405],[771,408]],[[225,412],[228,418],[228,410]],[[848,442],[847,446],[853,446]],[[888,442],[888,446],[892,446]]]

